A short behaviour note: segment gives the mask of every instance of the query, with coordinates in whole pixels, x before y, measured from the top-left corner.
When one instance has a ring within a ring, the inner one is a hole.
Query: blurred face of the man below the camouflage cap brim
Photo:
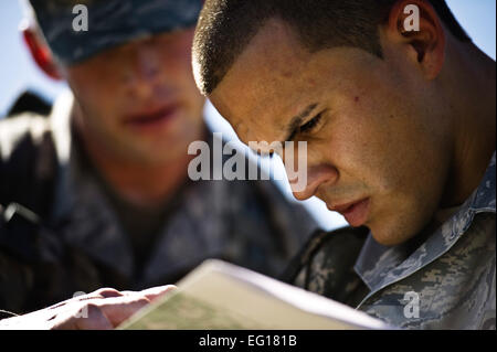
[[[202,129],[204,98],[191,73],[193,29],[105,51],[63,70],[86,135],[124,158],[163,162]]]

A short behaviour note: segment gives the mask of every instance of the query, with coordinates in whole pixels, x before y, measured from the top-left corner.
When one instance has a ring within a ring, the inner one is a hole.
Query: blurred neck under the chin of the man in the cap
[[[102,142],[85,132],[78,117],[81,109],[73,108],[76,132],[83,148],[98,174],[124,201],[142,207],[161,206],[188,180],[188,163],[194,156],[179,153],[165,161],[144,162],[125,158],[105,148]],[[203,130],[197,139],[201,139]]]

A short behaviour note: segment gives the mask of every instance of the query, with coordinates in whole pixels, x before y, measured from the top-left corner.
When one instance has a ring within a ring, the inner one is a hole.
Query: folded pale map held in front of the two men
[[[205,260],[178,289],[118,329],[352,330],[382,321],[322,296],[216,259]]]

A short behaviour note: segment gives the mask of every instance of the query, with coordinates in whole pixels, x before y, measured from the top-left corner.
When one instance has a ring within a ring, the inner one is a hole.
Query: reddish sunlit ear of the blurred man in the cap
[[[36,65],[52,79],[62,79],[52,53],[46,44],[40,39],[36,31],[32,26],[24,26],[21,31],[24,43]]]

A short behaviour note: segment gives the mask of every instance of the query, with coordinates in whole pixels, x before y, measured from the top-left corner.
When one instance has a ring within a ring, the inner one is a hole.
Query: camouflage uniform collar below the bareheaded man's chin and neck
[[[415,246],[412,242],[394,247],[378,244],[370,234],[355,265],[356,273],[371,289],[370,295],[420,270],[445,254],[473,223],[476,214],[495,213],[496,154],[487,167],[484,178],[472,195],[426,239]],[[413,241],[416,241],[414,238]]]

